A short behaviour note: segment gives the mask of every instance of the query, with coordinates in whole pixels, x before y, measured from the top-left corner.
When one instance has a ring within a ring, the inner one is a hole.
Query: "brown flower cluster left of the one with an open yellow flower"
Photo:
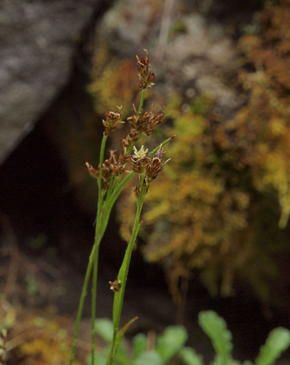
[[[125,172],[125,165],[130,160],[128,155],[121,153],[119,157],[116,154],[116,150],[110,150],[110,158],[102,163],[102,188],[107,190],[112,176],[117,176]],[[97,170],[86,162],[88,172],[94,178],[99,177],[100,165]]]

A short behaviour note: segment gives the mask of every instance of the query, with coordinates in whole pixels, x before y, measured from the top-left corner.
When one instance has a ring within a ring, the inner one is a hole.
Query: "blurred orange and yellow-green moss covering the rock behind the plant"
[[[144,256],[162,262],[177,301],[180,278],[199,269],[212,295],[233,294],[235,278],[242,278],[265,303],[285,305],[277,288],[289,282],[277,262],[289,252],[289,5],[266,2],[238,39],[231,83],[246,97],[233,115],[216,112],[215,97],[206,93],[193,93],[187,110],[183,96],[167,103],[170,127],[159,134],[177,137],[167,147],[172,160],[150,187],[141,235]],[[95,69],[104,54],[96,54]],[[97,111],[134,100],[135,78],[121,77],[134,67],[113,60],[101,75],[93,72]],[[118,204],[126,240],[134,212],[128,189]]]

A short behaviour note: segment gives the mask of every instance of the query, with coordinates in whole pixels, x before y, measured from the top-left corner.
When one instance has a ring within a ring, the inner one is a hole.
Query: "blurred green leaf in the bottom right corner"
[[[290,345],[290,331],[278,327],[270,332],[266,343],[261,346],[259,356],[256,358],[256,365],[271,365],[281,353]]]

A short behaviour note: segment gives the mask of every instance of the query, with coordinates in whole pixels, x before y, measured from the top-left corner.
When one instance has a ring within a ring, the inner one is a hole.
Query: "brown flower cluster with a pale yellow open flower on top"
[[[150,153],[148,153],[148,149],[144,149],[144,146],[142,146],[139,151],[134,146],[133,151],[134,153],[129,155],[132,162],[132,170],[139,175],[144,173],[145,184],[148,189],[150,182],[156,179],[157,175],[163,170],[164,165],[170,160],[170,158],[162,164],[162,145],[160,145],[152,158],[150,158]],[[134,194],[135,197],[140,196],[140,184],[134,189]]]

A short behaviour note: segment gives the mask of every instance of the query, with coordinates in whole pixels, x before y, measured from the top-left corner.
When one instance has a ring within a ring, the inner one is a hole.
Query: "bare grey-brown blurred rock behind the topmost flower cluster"
[[[193,3],[116,2],[96,28],[96,59],[101,57],[99,49],[104,43],[120,59],[134,59],[135,54],[141,55],[146,48],[157,75],[154,90],[165,98],[163,103],[174,93],[190,94],[191,98],[208,94],[216,100],[216,112],[231,115],[243,102],[234,85],[225,81],[236,67],[234,42],[227,34],[225,21],[208,18],[207,11],[201,12]],[[97,59],[95,63],[98,66],[100,61]],[[109,65],[110,68],[113,66]],[[103,69],[105,73],[106,68]],[[95,90],[94,86],[93,95],[97,98],[102,92],[105,94],[103,85]],[[96,104],[100,105],[99,99]],[[188,107],[184,104],[185,109]]]

